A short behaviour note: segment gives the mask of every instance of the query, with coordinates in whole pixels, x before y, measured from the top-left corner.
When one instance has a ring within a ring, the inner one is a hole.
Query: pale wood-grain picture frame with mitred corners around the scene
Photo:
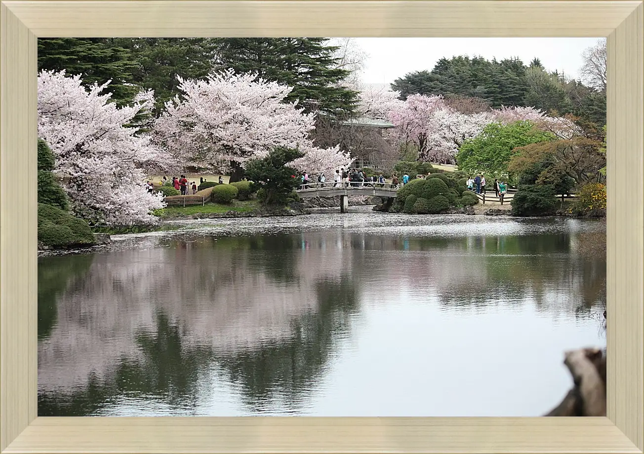
[[[0,0],[0,8],[1,453],[644,450],[642,1]],[[607,37],[607,417],[37,417],[37,38],[238,36]]]

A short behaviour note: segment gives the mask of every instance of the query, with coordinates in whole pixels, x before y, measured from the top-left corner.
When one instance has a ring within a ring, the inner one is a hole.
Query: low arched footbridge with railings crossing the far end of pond
[[[375,195],[383,197],[387,204],[393,203],[398,186],[391,183],[374,183],[365,181],[363,183],[336,183],[334,181],[327,183],[308,183],[300,185],[297,190],[299,197],[306,199],[309,197],[340,197],[340,212],[344,213],[349,206],[349,195]]]

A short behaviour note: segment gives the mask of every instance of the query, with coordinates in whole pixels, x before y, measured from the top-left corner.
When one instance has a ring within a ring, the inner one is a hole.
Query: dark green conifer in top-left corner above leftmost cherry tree
[[[129,104],[139,88],[133,72],[138,64],[129,50],[102,38],[38,39],[38,69],[66,71],[82,75],[83,84],[104,84],[111,80],[108,91],[117,105]]]

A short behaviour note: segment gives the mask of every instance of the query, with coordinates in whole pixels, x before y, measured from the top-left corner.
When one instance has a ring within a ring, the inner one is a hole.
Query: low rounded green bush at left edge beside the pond
[[[38,241],[46,246],[90,246],[94,234],[87,222],[52,205],[38,204]]]

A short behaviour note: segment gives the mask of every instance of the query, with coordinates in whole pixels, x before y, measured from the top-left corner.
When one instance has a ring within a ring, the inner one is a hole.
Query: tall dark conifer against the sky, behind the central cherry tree
[[[326,42],[325,38],[220,38],[217,69],[257,73],[292,86],[287,100],[298,100],[307,112],[352,114],[357,93],[339,86],[349,72],[335,68],[337,47]]]

